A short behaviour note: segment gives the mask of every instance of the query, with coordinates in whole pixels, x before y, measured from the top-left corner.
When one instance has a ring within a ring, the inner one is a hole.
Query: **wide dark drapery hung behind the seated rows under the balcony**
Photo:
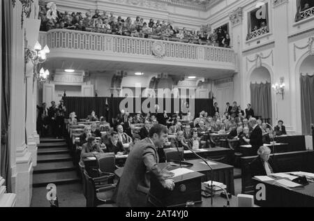
[[[68,111],[75,112],[78,119],[84,119],[91,111],[95,111],[98,116],[105,116],[108,119],[112,119],[113,117],[119,114],[119,105],[122,100],[125,98],[101,98],[101,97],[64,97],[64,105]],[[129,101],[133,100],[133,113],[141,111],[141,109],[136,108],[135,104],[142,103],[147,98],[127,98]],[[158,98],[153,98],[156,100],[156,104],[158,104]],[[195,105],[192,107],[192,102],[189,99],[175,99],[175,98],[161,98],[163,100],[163,109],[166,107],[166,103],[171,103],[171,109],[169,114],[173,114],[174,112],[181,111],[181,105],[185,102],[190,104],[190,108],[194,108],[195,116],[198,116],[200,112],[203,110],[205,112],[211,113],[213,110],[213,100],[212,99],[195,99]],[[106,105],[107,103],[107,105]],[[130,102],[129,102],[130,103]],[[129,104],[128,103],[128,104]],[[175,104],[179,104],[179,108],[174,108]]]

